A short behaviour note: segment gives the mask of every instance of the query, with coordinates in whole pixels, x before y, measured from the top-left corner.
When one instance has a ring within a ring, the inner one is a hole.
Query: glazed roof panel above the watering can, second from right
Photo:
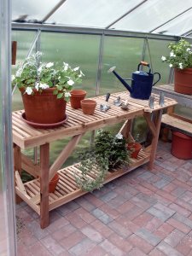
[[[192,6],[191,0],[149,0],[111,28],[150,32]],[[172,34],[172,32],[171,32]]]

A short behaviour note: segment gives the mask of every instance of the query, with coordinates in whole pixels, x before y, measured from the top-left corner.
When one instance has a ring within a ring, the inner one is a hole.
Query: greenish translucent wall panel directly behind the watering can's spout
[[[143,39],[105,37],[100,94],[126,90],[113,73],[108,73],[108,69],[116,66],[116,72],[122,78],[131,78],[131,73],[137,70],[137,65],[142,59],[142,52]]]

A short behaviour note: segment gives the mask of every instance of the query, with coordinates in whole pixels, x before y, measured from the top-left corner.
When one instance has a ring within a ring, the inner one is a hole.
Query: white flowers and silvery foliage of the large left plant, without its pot
[[[69,98],[74,83],[81,83],[84,73],[79,67],[70,67],[63,62],[62,67],[57,67],[54,62],[42,63],[41,52],[26,58],[26,61],[17,70],[12,84],[17,84],[19,89],[24,89],[27,95],[34,91],[42,93],[44,89],[55,88],[53,94],[57,98]]]

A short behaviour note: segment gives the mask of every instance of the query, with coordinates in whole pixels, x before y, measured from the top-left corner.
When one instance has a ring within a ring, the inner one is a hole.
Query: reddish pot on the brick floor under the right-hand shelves
[[[179,159],[192,159],[192,137],[178,131],[172,131],[171,153]]]

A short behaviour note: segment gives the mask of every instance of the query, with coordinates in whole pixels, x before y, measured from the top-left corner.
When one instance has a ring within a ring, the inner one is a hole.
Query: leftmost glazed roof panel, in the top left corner
[[[59,0],[13,0],[12,20],[42,20]]]

